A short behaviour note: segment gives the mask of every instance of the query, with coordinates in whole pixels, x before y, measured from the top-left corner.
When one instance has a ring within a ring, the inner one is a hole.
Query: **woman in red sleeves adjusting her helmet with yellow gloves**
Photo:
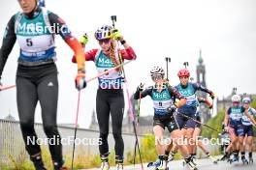
[[[91,49],[84,54],[86,61],[95,63],[98,73],[108,71],[123,62],[123,59],[136,59],[133,48],[123,39],[118,30],[112,26],[102,26],[95,32],[95,38],[100,44],[100,49]],[[125,49],[117,49],[116,42],[119,41]],[[87,38],[84,36],[81,43],[86,43]],[[118,53],[121,54],[119,60]],[[73,58],[73,62],[76,62]],[[115,165],[116,170],[123,169],[123,151],[124,143],[122,139],[122,121],[124,111],[123,96],[123,77],[121,68],[117,68],[98,78],[99,88],[96,97],[96,113],[100,128],[100,139],[102,144],[99,145],[100,157],[102,161],[101,169],[108,170],[109,164],[109,123],[112,115],[112,135],[114,139]]]

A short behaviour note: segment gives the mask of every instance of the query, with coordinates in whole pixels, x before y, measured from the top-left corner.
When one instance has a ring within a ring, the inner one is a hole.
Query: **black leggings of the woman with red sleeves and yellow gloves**
[[[100,138],[102,141],[102,145],[99,145],[101,155],[109,153],[108,135],[111,114],[115,156],[123,157],[123,111],[124,98],[122,90],[98,89],[96,98],[96,112],[100,128]]]

